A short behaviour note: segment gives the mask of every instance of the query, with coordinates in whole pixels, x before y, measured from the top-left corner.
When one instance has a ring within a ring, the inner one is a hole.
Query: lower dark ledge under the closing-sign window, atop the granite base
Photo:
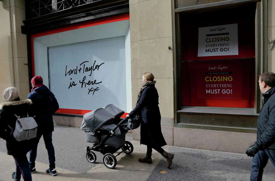
[[[206,124],[178,123],[178,124],[174,124],[174,127],[202,129],[202,130],[214,130],[214,131],[230,131],[230,132],[241,132],[241,133],[257,133],[256,128],[216,126],[216,125],[206,125]]]

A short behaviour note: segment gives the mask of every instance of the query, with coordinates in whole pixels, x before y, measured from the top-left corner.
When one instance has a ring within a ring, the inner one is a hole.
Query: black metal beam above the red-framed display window
[[[129,13],[129,0],[98,0],[36,18],[27,19],[23,21],[25,24],[25,28],[23,29],[25,33],[35,33],[42,31],[43,26],[47,26],[47,29],[57,28],[74,22],[103,17],[103,15],[108,16],[108,13],[114,15],[114,11],[116,11],[117,14]],[[52,23],[55,25],[52,25]]]

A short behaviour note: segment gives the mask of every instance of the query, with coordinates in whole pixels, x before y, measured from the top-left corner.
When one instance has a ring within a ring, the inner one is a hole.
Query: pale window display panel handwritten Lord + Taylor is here
[[[43,77],[59,108],[94,110],[114,104],[125,112],[132,110],[129,20],[39,36],[33,38],[33,50],[35,75]],[[91,76],[89,72],[69,75],[69,69],[79,68],[84,61],[89,61],[85,67],[91,67],[94,60],[95,66],[104,64]],[[84,76],[86,88],[81,88]],[[93,83],[87,85],[89,80]],[[72,81],[77,85],[68,89]]]

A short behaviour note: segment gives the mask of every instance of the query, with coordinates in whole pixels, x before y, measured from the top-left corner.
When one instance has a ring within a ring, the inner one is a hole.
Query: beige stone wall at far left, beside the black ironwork
[[[15,86],[21,99],[29,92],[27,39],[21,33],[23,20],[24,0],[0,1],[0,95],[7,87]]]

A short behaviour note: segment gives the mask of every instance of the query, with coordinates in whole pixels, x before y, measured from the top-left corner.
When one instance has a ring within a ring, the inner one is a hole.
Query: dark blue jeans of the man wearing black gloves
[[[275,150],[265,149],[260,150],[252,159],[252,168],[250,174],[250,181],[261,181],[264,168],[268,162],[271,160],[275,167]]]

